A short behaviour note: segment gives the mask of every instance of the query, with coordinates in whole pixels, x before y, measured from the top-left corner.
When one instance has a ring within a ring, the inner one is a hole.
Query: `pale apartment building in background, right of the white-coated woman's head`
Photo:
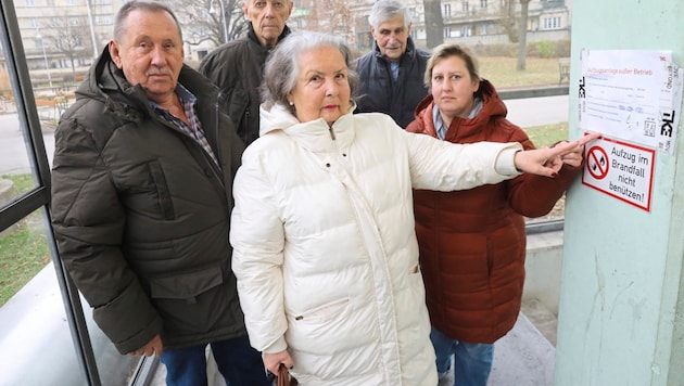
[[[368,14],[372,0],[306,0],[295,2],[291,24],[297,28],[331,31],[346,36],[359,50],[370,48],[372,37]],[[413,18],[411,37],[426,48],[426,10],[423,0],[407,0]],[[443,0],[440,2],[445,42],[505,43],[509,41],[505,24],[518,22],[518,0]],[[531,0],[528,9],[528,41],[569,40],[571,0]]]

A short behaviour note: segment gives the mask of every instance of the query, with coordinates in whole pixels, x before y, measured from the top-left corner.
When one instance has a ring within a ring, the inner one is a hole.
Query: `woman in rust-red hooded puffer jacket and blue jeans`
[[[407,131],[455,143],[534,144],[506,119],[494,86],[461,47],[438,47],[425,76],[430,94]],[[521,175],[466,191],[415,191],[416,233],[438,371],[455,355],[455,385],[486,385],[494,342],[516,323],[524,282],[523,217],[550,211],[582,169],[582,152],[563,156],[555,178]]]

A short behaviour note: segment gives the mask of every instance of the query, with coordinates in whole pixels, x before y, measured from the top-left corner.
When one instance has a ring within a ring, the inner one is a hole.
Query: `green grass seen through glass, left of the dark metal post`
[[[1,176],[14,182],[15,194],[35,186],[30,175]],[[50,261],[45,224],[39,211],[0,233],[0,307]]]

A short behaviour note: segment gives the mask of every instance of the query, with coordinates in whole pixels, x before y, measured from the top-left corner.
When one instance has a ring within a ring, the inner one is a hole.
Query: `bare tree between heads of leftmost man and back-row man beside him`
[[[211,41],[217,47],[242,37],[248,21],[241,0],[169,0],[189,44]]]

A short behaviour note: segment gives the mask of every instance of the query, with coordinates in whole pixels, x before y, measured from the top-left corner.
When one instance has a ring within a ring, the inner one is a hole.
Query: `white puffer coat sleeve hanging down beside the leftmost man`
[[[245,152],[233,182],[232,270],[250,343],[258,351],[287,348],[282,261],[284,230],[259,158]]]

